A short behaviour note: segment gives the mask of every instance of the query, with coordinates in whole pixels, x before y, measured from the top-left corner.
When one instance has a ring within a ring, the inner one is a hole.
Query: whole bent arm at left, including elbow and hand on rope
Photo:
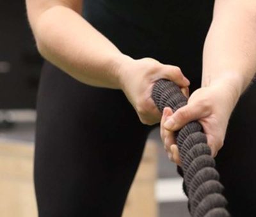
[[[156,59],[132,59],[81,17],[83,0],[26,0],[40,54],[91,86],[122,89],[144,124],[161,114],[150,98],[154,82],[168,79],[186,94],[189,81],[177,66]]]

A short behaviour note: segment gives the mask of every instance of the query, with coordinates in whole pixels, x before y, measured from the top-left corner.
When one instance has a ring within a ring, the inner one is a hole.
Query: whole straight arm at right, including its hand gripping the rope
[[[161,137],[169,158],[180,164],[173,131],[198,120],[212,156],[223,146],[234,107],[256,71],[256,1],[216,0],[205,39],[202,87],[174,114],[164,108]]]

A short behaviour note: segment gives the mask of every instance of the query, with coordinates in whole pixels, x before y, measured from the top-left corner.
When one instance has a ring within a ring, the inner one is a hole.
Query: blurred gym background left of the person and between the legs
[[[24,1],[0,1],[0,216],[37,216],[33,188],[36,91],[43,59]],[[188,217],[182,179],[152,131],[124,217]],[[111,195],[109,195],[111,197]]]

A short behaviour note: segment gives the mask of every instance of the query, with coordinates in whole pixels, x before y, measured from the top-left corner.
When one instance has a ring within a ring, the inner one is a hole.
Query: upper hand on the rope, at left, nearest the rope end
[[[180,87],[182,93],[188,96],[189,80],[177,66],[162,64],[150,57],[132,59],[125,56],[117,70],[120,87],[143,124],[152,125],[161,120],[161,113],[151,98],[157,80],[172,80]]]

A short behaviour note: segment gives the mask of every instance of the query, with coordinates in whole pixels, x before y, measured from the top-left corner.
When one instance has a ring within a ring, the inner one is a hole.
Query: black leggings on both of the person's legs
[[[255,96],[254,85],[232,114],[216,158],[234,217],[256,216]],[[49,63],[37,112],[39,216],[120,217],[152,127],[140,123],[122,91],[86,86]]]

